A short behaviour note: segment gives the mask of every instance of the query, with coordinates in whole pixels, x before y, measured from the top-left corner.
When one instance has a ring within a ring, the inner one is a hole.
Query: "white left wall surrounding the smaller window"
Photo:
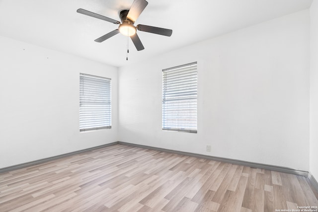
[[[0,37],[0,168],[117,141],[117,68]],[[79,73],[112,78],[112,129],[79,133]]]

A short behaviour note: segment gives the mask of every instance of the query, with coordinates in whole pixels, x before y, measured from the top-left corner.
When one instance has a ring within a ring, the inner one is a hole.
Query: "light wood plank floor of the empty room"
[[[0,173],[0,212],[275,212],[318,206],[305,177],[116,144]]]

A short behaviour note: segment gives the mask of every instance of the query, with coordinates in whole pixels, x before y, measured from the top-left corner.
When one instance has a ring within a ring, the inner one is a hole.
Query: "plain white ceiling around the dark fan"
[[[0,35],[116,67],[147,60],[208,38],[309,8],[312,0],[148,0],[135,25],[172,29],[171,37],[138,32],[137,51],[118,34],[94,40],[118,25],[76,12],[83,8],[115,20],[133,0],[0,0]]]

